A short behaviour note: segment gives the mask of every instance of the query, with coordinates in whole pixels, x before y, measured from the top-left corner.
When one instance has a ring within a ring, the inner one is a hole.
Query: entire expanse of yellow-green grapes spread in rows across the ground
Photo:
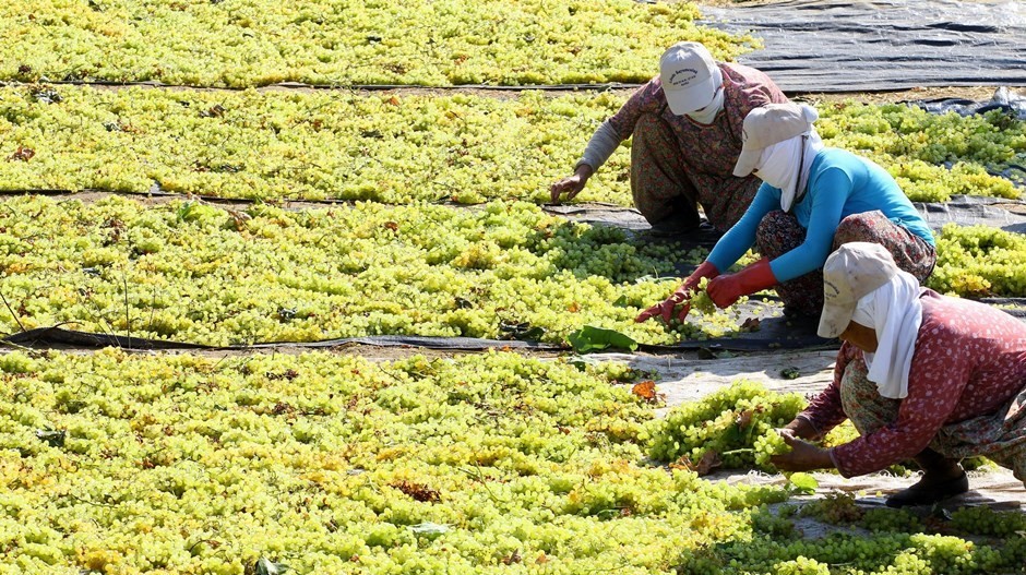
[[[634,323],[705,249],[545,209],[630,95],[618,83],[649,80],[667,46],[761,47],[699,17],[631,0],[0,5],[0,331],[231,347],[4,342],[0,574],[1026,573],[1022,513],[868,508],[782,476],[774,429],[800,394],[739,380],[663,409],[658,373],[577,354],[757,328],[711,306]],[[914,201],[1021,197],[1012,113],[816,105],[827,145]],[[623,145],[575,202],[628,208],[629,170]],[[938,255],[938,291],[1026,297],[1021,233],[949,224]],[[494,345],[285,347],[365,336]]]

